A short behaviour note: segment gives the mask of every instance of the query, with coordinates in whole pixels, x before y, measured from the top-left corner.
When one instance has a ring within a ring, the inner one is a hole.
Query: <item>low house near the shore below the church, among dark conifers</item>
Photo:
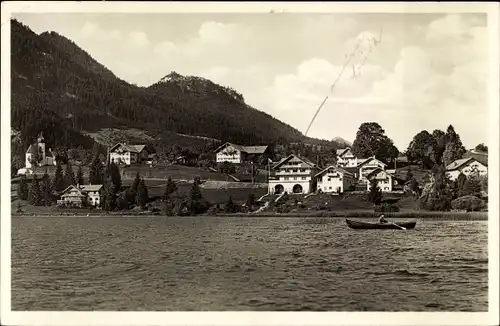
[[[61,193],[58,205],[69,207],[98,207],[101,204],[102,185],[71,185]]]

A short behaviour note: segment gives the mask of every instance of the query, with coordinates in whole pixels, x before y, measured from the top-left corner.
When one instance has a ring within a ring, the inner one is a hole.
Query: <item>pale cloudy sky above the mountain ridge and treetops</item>
[[[488,33],[480,14],[16,14],[56,31],[118,77],[211,79],[308,135],[352,141],[378,122],[401,151],[449,124],[488,142]],[[376,45],[374,39],[379,39]],[[357,51],[353,49],[358,44]],[[350,58],[351,53],[353,54]],[[332,89],[331,86],[350,62]]]

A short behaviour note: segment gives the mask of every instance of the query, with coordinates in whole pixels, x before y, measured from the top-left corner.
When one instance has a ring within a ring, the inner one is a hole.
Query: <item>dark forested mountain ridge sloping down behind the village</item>
[[[73,41],[11,21],[12,128],[24,144],[43,131],[54,147],[83,146],[102,128],[136,128],[247,144],[307,141],[210,80],[171,72],[149,87],[117,78]],[[165,136],[163,136],[165,139]],[[168,137],[167,137],[168,138]]]

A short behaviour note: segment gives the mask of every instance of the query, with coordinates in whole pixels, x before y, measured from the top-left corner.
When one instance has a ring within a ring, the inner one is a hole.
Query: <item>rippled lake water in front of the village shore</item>
[[[487,311],[486,221],[13,217],[13,310]]]

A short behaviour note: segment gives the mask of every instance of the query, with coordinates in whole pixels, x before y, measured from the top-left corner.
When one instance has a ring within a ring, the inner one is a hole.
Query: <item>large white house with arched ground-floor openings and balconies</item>
[[[318,171],[316,164],[291,154],[272,167],[274,178],[269,178],[270,194],[307,194],[315,191],[315,174]]]

